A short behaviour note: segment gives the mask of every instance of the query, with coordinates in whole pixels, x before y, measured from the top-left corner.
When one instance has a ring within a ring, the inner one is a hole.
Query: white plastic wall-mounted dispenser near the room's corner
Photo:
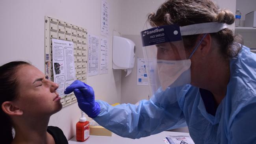
[[[134,67],[135,50],[135,44],[130,39],[113,36],[113,69],[127,70],[128,76]]]

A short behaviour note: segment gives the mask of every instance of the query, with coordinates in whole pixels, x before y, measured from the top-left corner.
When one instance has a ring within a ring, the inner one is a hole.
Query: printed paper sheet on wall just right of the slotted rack
[[[96,35],[89,34],[88,37],[88,76],[95,76],[99,74],[100,40]]]

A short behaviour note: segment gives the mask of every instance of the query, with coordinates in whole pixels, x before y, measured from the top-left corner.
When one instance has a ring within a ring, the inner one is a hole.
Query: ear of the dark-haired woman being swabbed
[[[2,110],[9,116],[19,116],[23,114],[23,111],[10,101],[2,103]]]

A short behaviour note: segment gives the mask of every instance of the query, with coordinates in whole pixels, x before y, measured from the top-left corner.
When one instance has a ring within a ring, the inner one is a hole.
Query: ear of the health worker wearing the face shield
[[[204,34],[200,35],[199,39],[202,39],[203,36],[204,36]],[[207,34],[206,37],[204,37],[204,39],[202,40],[202,42],[199,46],[199,50],[203,57],[209,54],[209,52],[211,50],[211,35],[210,34]]]

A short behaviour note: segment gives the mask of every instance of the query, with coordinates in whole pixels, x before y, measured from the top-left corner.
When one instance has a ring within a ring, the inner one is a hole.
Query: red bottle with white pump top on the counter
[[[79,122],[76,123],[76,140],[84,142],[89,138],[89,135],[89,121],[87,121],[85,113],[81,111],[81,117],[79,118]]]

